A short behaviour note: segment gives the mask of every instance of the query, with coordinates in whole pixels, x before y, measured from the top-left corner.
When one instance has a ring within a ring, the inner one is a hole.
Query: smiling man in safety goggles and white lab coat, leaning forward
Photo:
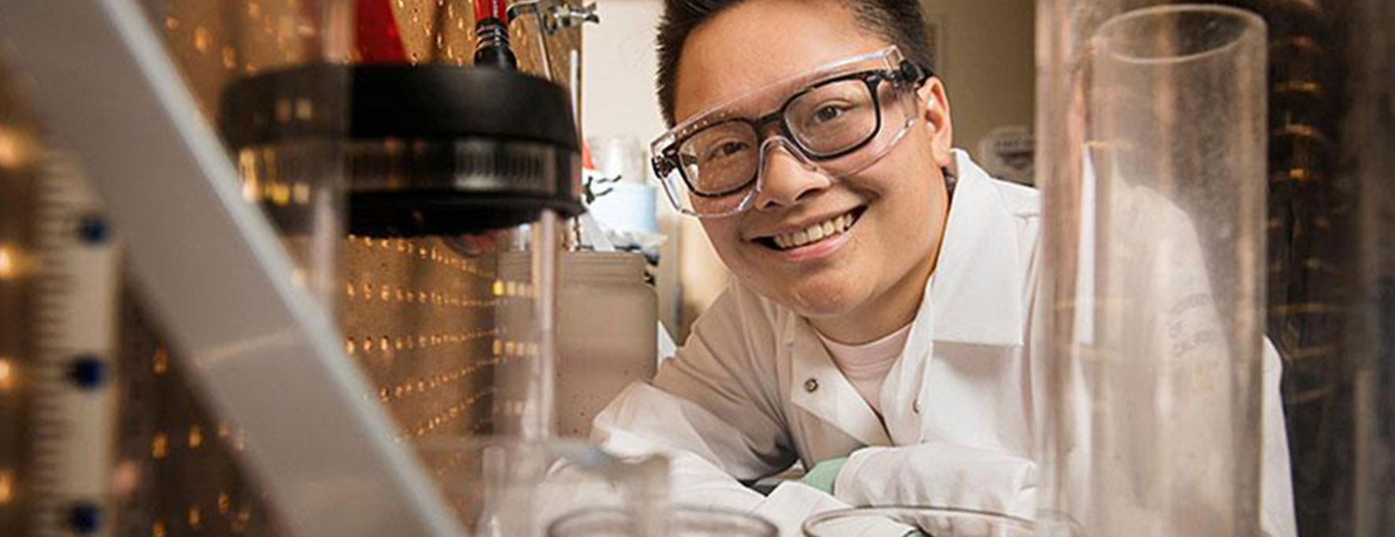
[[[848,505],[1032,516],[1039,199],[953,149],[919,3],[667,0],[658,56],[656,172],[735,278],[594,439],[784,534]],[[1276,399],[1264,418],[1264,526],[1290,536]]]

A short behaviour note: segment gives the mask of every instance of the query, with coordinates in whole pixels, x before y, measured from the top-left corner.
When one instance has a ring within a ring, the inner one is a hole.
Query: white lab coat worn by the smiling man
[[[935,275],[901,358],[882,388],[883,423],[833,364],[809,322],[732,283],[651,384],[596,417],[617,455],[674,457],[674,501],[755,512],[799,534],[812,513],[848,505],[949,505],[1031,517],[1036,491],[1031,318],[1039,244],[1035,190],[989,177],[963,152]],[[1293,531],[1278,356],[1265,346],[1267,533]],[[870,446],[870,448],[869,448]],[[850,456],[851,455],[851,456]],[[783,483],[763,497],[738,481],[850,456],[834,495]],[[898,476],[918,476],[904,480]],[[901,536],[865,523],[851,534]]]

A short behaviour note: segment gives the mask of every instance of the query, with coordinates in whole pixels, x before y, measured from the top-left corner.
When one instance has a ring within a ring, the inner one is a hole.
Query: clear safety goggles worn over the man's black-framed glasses
[[[654,172],[674,208],[695,216],[749,209],[777,146],[829,177],[858,173],[910,131],[929,77],[893,46],[776,82],[664,133],[650,146]]]

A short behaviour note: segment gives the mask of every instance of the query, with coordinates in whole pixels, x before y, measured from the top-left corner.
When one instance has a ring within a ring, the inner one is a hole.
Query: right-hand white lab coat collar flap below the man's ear
[[[950,173],[958,181],[918,318],[930,307],[937,311],[936,342],[1021,346],[1027,259],[1013,211],[968,153],[954,149]]]

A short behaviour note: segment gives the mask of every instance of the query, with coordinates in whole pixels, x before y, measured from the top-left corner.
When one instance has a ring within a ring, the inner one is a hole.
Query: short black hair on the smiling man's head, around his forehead
[[[693,28],[711,20],[723,10],[746,0],[664,0],[664,15],[658,21],[658,106],[664,121],[674,126],[674,85],[678,60]],[[901,54],[915,64],[933,68],[930,45],[925,38],[925,15],[918,0],[833,0],[852,10],[854,18],[868,31],[901,49]]]

